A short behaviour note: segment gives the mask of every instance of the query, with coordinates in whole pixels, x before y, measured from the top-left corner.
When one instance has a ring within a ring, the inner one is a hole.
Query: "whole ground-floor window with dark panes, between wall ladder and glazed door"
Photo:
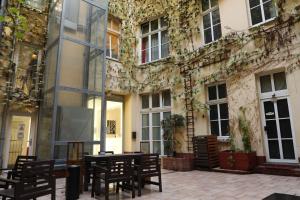
[[[229,114],[226,84],[208,87],[210,131],[213,135],[229,136]]]

